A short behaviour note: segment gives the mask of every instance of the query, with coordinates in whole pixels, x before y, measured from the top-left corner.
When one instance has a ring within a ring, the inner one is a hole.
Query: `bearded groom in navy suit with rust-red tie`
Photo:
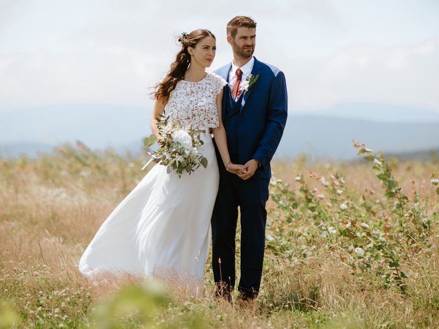
[[[285,75],[253,57],[256,23],[236,16],[227,24],[233,62],[217,69],[228,82],[222,99],[222,121],[233,163],[239,174],[226,171],[217,152],[219,190],[212,215],[213,276],[217,294],[230,300],[235,288],[235,236],[241,215],[241,278],[239,296],[257,297],[265,247],[265,221],[270,160],[287,121]]]

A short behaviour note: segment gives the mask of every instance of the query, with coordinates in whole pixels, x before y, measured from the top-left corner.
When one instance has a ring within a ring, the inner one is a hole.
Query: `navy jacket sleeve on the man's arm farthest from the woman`
[[[272,88],[270,90],[270,99],[268,101],[268,116],[265,123],[263,137],[252,158],[259,161],[262,167],[265,167],[274,156],[279,143],[288,114],[288,97],[287,84],[285,75],[282,71],[274,77]]]

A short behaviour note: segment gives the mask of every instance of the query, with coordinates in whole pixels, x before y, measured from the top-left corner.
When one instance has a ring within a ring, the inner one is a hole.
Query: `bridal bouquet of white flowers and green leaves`
[[[207,159],[197,149],[204,144],[200,138],[200,132],[186,130],[178,122],[169,121],[169,117],[163,117],[161,121],[158,121],[157,127],[158,134],[161,136],[161,139],[157,141],[160,148],[152,153],[148,152],[151,160],[143,166],[142,170],[154,161],[167,166],[167,173],[174,169],[180,178],[183,171],[190,175],[200,165],[207,167]],[[146,138],[145,144],[150,146],[155,140],[156,138],[152,135]]]

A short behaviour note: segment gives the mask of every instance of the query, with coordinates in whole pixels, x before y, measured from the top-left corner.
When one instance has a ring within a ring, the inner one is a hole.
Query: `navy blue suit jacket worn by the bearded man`
[[[217,69],[215,73],[228,82],[232,64]],[[252,178],[271,177],[270,160],[276,151],[287,121],[287,85],[285,75],[276,67],[254,58],[252,75],[259,75],[257,82],[245,95],[244,106],[233,106],[228,85],[224,87],[222,99],[222,121],[226,132],[230,117],[239,116],[237,125],[239,163],[256,159],[261,164]],[[222,164],[222,161],[219,161]]]

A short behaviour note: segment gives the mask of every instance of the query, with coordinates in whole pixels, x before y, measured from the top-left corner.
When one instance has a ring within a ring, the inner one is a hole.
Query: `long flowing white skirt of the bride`
[[[181,178],[156,164],[113,210],[80,259],[86,276],[130,273],[202,280],[211,241],[219,173],[213,141],[202,134],[208,159]]]

